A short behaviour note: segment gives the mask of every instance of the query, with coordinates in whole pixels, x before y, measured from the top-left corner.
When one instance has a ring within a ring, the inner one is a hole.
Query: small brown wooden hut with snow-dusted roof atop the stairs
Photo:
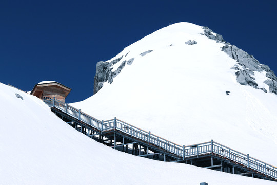
[[[39,99],[47,100],[56,97],[57,100],[65,102],[65,98],[70,93],[71,88],[54,81],[43,81],[35,84],[31,95]]]

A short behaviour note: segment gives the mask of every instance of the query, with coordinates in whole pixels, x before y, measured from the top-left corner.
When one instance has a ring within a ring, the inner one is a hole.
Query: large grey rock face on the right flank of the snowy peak
[[[267,65],[260,64],[260,62],[256,60],[253,55],[248,54],[236,46],[230,45],[230,43],[226,43],[220,34],[214,33],[208,27],[203,27],[203,29],[204,35],[206,35],[209,39],[215,40],[216,42],[225,43],[225,46],[222,47],[222,51],[226,52],[230,58],[238,61],[238,65],[234,65],[231,68],[237,70],[235,75],[237,77],[236,81],[238,83],[241,85],[249,85],[256,89],[261,89],[267,93],[265,88],[258,87],[258,84],[255,82],[255,78],[253,77],[255,71],[266,71],[266,77],[269,79],[265,80],[264,83],[269,86],[270,93],[277,95],[277,77]]]

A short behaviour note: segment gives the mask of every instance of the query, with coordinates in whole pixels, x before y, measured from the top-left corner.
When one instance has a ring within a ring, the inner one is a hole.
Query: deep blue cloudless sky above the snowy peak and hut
[[[0,82],[31,90],[44,80],[93,94],[98,61],[169,23],[208,26],[277,73],[277,1],[0,2]]]

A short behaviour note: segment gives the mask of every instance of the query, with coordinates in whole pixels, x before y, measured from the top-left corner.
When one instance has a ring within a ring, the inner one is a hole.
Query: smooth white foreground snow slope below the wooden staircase
[[[32,95],[2,83],[0,94],[0,184],[275,184],[122,153],[74,130]]]

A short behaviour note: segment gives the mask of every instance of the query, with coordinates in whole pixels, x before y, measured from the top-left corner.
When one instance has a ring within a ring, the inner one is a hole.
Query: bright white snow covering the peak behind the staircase
[[[190,23],[162,28],[126,47],[112,71],[125,65],[112,83],[92,97],[72,103],[97,119],[116,117],[180,145],[213,139],[277,165],[277,96],[240,85],[236,60]],[[197,44],[185,42],[195,40]],[[147,54],[141,53],[152,50]],[[259,87],[268,79],[255,72]],[[230,91],[230,95],[226,95]]]

